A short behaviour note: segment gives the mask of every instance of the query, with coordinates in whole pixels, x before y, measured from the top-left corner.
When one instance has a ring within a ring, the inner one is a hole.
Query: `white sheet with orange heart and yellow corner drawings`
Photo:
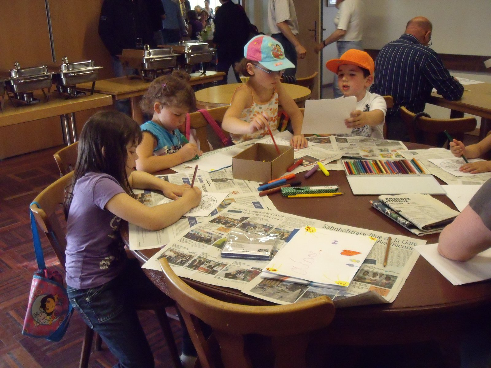
[[[377,239],[306,226],[267,265],[274,274],[348,286]]]

